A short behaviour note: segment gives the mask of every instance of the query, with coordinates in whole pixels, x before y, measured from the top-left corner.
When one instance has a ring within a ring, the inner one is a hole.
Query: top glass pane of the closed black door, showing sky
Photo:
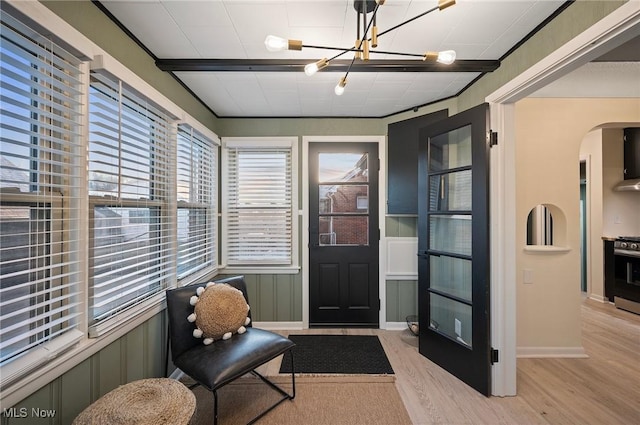
[[[368,182],[366,153],[318,154],[319,182]]]

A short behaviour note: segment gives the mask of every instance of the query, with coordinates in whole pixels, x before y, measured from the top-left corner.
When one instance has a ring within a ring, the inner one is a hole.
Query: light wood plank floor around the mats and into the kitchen
[[[582,319],[583,345],[589,358],[518,359],[515,397],[480,395],[422,357],[417,338],[408,330],[291,333],[378,335],[416,425],[640,424],[640,316],[586,300]],[[278,369],[279,363],[274,363],[263,372],[277,375]]]

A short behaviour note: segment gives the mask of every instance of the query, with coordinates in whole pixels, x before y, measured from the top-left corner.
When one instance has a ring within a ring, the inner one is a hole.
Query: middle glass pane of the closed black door
[[[367,213],[369,212],[369,186],[320,185],[319,213]]]

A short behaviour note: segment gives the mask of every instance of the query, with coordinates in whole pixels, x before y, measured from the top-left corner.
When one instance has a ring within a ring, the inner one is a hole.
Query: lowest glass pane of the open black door
[[[433,293],[429,294],[429,304],[429,327],[471,348],[471,306]]]

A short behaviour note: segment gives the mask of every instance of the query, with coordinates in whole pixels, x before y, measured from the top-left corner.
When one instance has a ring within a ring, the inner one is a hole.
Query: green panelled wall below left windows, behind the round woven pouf
[[[13,406],[18,412],[26,409],[28,416],[3,415],[2,425],[68,425],[119,385],[164,376],[166,335],[166,315],[159,313]],[[32,409],[55,410],[55,416],[34,417]]]

